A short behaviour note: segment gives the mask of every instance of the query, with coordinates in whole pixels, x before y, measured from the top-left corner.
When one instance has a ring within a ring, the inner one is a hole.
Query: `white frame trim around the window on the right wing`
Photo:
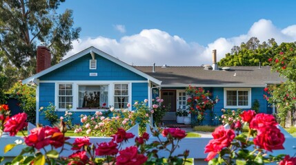
[[[247,106],[227,106],[226,91],[248,91],[248,105]],[[251,97],[252,97],[252,90],[250,88],[224,88],[224,109],[250,109],[252,106]]]

